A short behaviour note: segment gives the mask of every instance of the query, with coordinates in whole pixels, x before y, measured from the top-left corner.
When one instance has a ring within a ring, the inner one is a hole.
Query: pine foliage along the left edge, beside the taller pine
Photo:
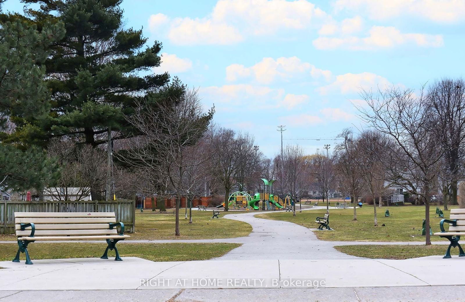
[[[49,112],[43,83],[45,68],[39,64],[46,49],[60,39],[60,24],[44,24],[41,32],[18,18],[0,24],[0,187],[25,190],[53,184],[58,167],[33,144],[11,142],[11,133],[22,136]],[[14,123],[13,123],[14,122]]]

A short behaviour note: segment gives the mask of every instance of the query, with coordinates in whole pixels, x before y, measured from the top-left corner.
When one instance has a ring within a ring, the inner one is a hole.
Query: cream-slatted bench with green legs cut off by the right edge
[[[450,224],[448,231],[445,231],[444,223]],[[439,227],[441,231],[433,235],[447,238],[451,242],[443,258],[451,258],[451,247],[458,247],[458,256],[464,257],[464,250],[458,244],[458,240],[460,240],[460,236],[465,235],[465,209],[452,209],[450,218],[441,219]]]

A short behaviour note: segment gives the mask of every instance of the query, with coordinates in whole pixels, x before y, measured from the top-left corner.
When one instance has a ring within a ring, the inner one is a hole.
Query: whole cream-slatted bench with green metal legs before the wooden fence
[[[105,239],[108,245],[100,258],[108,259],[108,250],[114,250],[115,260],[122,261],[115,244],[130,237],[123,234],[124,224],[116,222],[114,212],[15,212],[14,223],[19,248],[13,262],[20,262],[20,253],[25,253],[26,264],[33,264],[27,252],[31,242],[80,239]]]

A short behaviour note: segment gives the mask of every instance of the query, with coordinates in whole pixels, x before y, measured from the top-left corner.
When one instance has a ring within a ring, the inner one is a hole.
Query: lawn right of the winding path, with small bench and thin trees
[[[452,206],[452,208],[457,206]],[[451,206],[449,206],[451,208]],[[335,231],[314,231],[317,237],[326,241],[424,241],[421,236],[422,218],[425,217],[425,206],[389,206],[391,217],[384,217],[388,207],[377,208],[378,225],[373,226],[373,206],[364,205],[357,208],[357,221],[353,219],[353,208],[330,209],[329,225]],[[441,209],[443,209],[441,207]],[[430,208],[430,222],[433,233],[440,231],[436,206]],[[443,211],[444,217],[449,217],[450,211]],[[325,215],[325,210],[310,210],[292,216],[292,212],[259,214],[257,217],[272,220],[284,220],[303,225],[308,228],[317,228],[317,216]],[[382,226],[385,224],[385,226]],[[414,237],[412,237],[414,236]],[[432,241],[446,241],[438,236],[431,236]]]

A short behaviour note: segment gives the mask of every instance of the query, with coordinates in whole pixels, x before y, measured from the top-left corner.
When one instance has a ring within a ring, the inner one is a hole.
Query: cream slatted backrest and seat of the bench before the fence
[[[27,237],[31,227],[21,231],[21,223],[33,223],[34,236],[85,236],[117,235],[116,228],[110,230],[110,223],[115,223],[114,212],[15,212],[14,223],[17,237]]]

